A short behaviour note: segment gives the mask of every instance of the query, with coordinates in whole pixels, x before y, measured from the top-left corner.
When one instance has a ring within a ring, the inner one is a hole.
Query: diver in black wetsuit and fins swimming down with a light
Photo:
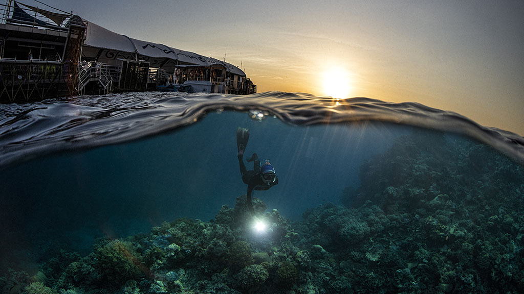
[[[238,163],[240,164],[240,173],[242,180],[247,184],[247,207],[253,216],[253,203],[251,201],[251,194],[255,190],[267,190],[272,186],[278,184],[278,178],[275,174],[275,168],[271,166],[269,161],[260,165],[260,160],[256,153],[253,153],[247,162],[253,161],[253,171],[248,171],[244,165],[244,151],[246,150],[247,141],[249,140],[249,130],[241,127],[236,128],[236,145],[238,148]]]

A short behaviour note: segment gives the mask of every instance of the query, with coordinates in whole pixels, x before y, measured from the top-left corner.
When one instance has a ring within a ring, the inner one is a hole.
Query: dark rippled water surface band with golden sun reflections
[[[44,150],[90,147],[142,138],[198,120],[208,111],[264,110],[294,125],[383,121],[462,133],[522,162],[524,139],[478,125],[459,114],[417,103],[368,98],[337,100],[267,92],[252,96],[130,93],[2,105],[0,163]]]

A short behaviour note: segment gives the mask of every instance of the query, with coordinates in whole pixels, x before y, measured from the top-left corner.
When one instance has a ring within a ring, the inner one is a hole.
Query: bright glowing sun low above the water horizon
[[[344,99],[350,95],[350,73],[342,66],[332,66],[323,72],[324,95],[337,99]]]

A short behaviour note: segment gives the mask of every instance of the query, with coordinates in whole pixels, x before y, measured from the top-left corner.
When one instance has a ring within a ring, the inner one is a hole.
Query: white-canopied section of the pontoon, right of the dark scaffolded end
[[[127,89],[127,80],[146,80],[144,69],[147,68],[147,88],[184,88],[192,93],[256,93],[256,85],[244,71],[230,63],[165,44],[129,38],[84,21],[87,31],[82,59],[107,64],[111,69],[121,68],[120,76],[116,70],[111,73],[117,88]]]

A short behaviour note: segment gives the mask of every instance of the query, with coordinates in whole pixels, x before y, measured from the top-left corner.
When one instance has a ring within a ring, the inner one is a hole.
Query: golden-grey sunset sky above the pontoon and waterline
[[[524,135],[524,1],[43,2],[128,37],[225,55],[259,93],[416,101]]]

